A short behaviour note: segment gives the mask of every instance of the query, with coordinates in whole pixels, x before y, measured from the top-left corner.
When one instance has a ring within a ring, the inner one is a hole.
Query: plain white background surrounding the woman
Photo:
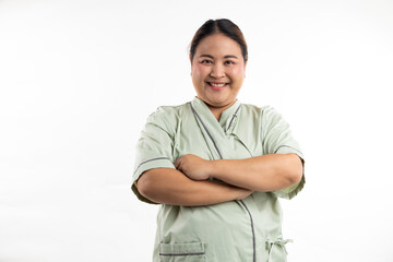
[[[188,44],[228,17],[239,99],[306,154],[283,201],[289,261],[393,261],[393,2],[0,0],[0,261],[151,261],[157,206],[130,190],[160,105],[191,100]]]

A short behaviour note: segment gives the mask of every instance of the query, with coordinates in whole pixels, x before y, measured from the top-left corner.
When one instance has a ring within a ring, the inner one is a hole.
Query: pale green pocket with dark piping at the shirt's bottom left
[[[160,243],[159,262],[205,262],[202,242]]]

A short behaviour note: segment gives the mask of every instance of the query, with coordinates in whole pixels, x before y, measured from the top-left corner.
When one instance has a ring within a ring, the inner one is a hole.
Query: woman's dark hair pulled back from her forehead
[[[247,44],[243,34],[240,28],[233,23],[230,20],[221,19],[221,20],[209,20],[206,21],[195,33],[190,44],[190,58],[191,61],[195,55],[195,50],[200,41],[214,34],[223,34],[233,40],[237,41],[241,49],[241,55],[245,62],[247,61]]]

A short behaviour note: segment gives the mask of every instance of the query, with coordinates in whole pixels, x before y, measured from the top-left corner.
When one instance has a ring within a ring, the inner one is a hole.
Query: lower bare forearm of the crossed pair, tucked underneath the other
[[[171,168],[145,171],[138,180],[138,190],[146,199],[172,205],[211,205],[240,200],[252,191],[215,181],[195,181]]]

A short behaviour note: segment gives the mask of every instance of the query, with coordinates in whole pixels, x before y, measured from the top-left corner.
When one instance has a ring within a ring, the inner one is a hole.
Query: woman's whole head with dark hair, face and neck
[[[246,76],[247,56],[245,36],[229,20],[207,21],[191,41],[194,88],[217,119],[219,111],[236,100]]]

